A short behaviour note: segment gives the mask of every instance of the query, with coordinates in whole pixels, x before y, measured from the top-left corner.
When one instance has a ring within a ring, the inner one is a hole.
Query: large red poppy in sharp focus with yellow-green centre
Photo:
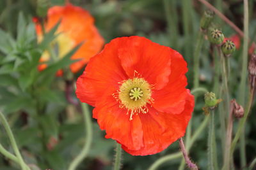
[[[113,39],[77,80],[106,138],[132,155],[163,151],[184,136],[194,108],[186,61],[172,48],[131,36]]]

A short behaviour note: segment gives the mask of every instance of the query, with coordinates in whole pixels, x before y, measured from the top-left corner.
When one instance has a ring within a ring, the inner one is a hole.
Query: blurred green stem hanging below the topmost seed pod
[[[202,44],[203,44],[203,40],[204,40],[204,34],[200,31],[198,32],[198,38],[196,41],[196,49],[193,55],[193,59],[194,59],[194,84],[193,84],[193,88],[196,89],[197,87],[199,87],[199,62],[200,62],[200,52],[202,49]]]

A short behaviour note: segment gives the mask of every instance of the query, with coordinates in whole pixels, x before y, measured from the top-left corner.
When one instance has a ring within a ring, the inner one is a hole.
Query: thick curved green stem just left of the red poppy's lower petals
[[[90,117],[90,111],[88,104],[81,103],[84,118],[84,130],[86,131],[86,143],[84,144],[81,152],[77,157],[72,160],[68,170],[74,170],[82,162],[82,160],[88,155],[90,147],[92,145],[92,121]]]

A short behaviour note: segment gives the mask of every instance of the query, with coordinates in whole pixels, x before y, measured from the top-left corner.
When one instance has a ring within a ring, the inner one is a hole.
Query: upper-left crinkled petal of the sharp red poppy
[[[116,57],[117,44],[109,43],[104,50],[95,55],[84,70],[84,73],[77,79],[76,95],[83,103],[95,106],[95,101],[99,99],[109,86],[119,89],[118,83],[127,79]]]

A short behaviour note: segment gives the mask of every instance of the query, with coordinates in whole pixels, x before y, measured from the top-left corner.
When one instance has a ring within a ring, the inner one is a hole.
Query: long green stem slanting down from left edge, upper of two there
[[[12,148],[14,150],[14,153],[17,156],[17,159],[19,160],[19,164],[20,164],[21,169],[22,170],[27,170],[26,164],[25,164],[24,160],[22,159],[19,148],[18,148],[17,143],[15,141],[15,138],[13,136],[12,130],[11,130],[10,126],[8,125],[8,122],[7,122],[6,118],[4,117],[4,115],[1,111],[0,111],[0,121],[2,122],[2,124],[4,126],[4,129],[7,132],[7,135],[8,135],[8,138],[10,139],[10,142],[11,142]]]

